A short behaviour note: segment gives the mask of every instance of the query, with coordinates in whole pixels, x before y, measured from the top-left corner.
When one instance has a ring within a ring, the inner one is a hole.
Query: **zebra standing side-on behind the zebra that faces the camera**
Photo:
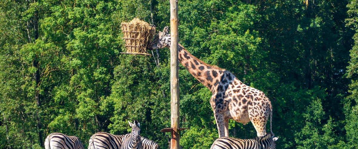
[[[89,138],[88,149],[120,149],[122,145],[122,138],[129,138],[130,134],[126,135],[113,135],[105,132],[95,133]],[[157,149],[158,144],[143,136],[142,140],[143,149]]]

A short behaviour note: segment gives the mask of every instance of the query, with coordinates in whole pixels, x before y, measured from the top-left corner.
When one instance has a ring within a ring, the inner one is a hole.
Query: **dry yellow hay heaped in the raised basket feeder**
[[[154,26],[134,18],[129,23],[122,23],[122,31],[127,53],[147,54],[147,46],[155,34]]]

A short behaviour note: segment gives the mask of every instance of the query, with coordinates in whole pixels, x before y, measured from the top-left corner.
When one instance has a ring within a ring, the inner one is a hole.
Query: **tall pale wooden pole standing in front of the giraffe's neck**
[[[170,0],[170,108],[171,149],[179,149],[179,65],[178,65],[178,1]]]

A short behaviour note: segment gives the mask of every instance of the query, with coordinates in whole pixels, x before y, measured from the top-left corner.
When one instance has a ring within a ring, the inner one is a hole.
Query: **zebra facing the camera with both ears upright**
[[[138,121],[134,120],[134,124],[128,121],[129,126],[132,127],[130,137],[125,138],[123,140],[123,144],[121,149],[143,149],[142,140],[140,139],[140,124]]]

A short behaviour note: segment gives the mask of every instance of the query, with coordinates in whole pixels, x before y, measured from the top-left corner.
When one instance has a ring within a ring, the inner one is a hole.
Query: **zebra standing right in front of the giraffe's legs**
[[[255,139],[222,137],[216,139],[210,149],[275,149],[277,139],[279,137],[275,137],[273,133],[267,133]]]

